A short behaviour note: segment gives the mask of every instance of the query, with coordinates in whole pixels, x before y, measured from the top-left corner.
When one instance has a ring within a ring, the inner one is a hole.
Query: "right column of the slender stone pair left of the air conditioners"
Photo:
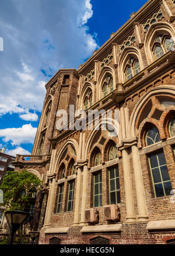
[[[87,197],[87,184],[88,184],[88,161],[83,166],[83,186],[82,186],[82,209],[81,209],[81,221],[80,226],[86,226],[85,223],[85,209],[86,209],[86,197]]]

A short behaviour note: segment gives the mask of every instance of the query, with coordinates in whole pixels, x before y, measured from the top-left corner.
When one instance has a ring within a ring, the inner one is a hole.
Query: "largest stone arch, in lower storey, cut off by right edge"
[[[138,103],[135,105],[134,110],[132,111],[131,118],[129,120],[129,137],[133,138],[135,134],[135,125],[136,125],[136,120],[139,116],[139,112],[141,112],[143,106],[145,103],[149,100],[150,97],[153,95],[158,95],[158,94],[167,94],[167,95],[174,95],[175,93],[175,87],[172,85],[164,85],[164,86],[157,86],[155,88],[150,89],[145,93]]]

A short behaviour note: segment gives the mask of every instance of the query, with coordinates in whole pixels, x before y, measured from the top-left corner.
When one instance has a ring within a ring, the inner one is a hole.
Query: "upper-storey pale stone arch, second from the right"
[[[138,59],[141,70],[144,69],[140,51],[138,49],[136,49],[134,46],[125,47],[125,49],[121,53],[121,56],[120,56],[120,59],[118,62],[119,83],[122,83],[122,84],[125,83],[124,70],[125,70],[125,66],[127,65],[128,60],[131,57],[135,57],[136,59]]]

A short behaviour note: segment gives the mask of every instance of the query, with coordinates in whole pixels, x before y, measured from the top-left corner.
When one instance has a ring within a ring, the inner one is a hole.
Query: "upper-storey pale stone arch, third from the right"
[[[96,93],[96,101],[101,100],[102,98],[102,86],[103,86],[103,79],[106,76],[106,74],[111,74],[111,76],[113,76],[113,85],[114,85],[114,90],[116,88],[116,78],[115,78],[115,71],[114,69],[112,69],[111,67],[108,66],[104,66],[102,67],[99,77],[97,78],[97,93]]]

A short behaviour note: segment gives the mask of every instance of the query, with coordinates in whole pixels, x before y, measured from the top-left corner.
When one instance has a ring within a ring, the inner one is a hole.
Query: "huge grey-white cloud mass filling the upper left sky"
[[[96,49],[90,0],[1,0],[0,115],[43,107],[44,84],[60,68],[78,68]],[[48,19],[48,17],[51,17]],[[23,115],[22,115],[23,116]]]

